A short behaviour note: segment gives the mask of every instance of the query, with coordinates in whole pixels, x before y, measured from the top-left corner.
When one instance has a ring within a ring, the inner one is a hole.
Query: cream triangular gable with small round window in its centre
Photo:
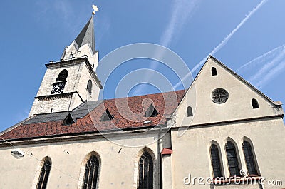
[[[216,97],[214,91],[217,89],[224,91],[224,94],[229,92],[229,99],[224,99],[222,103],[214,103],[213,97]],[[252,99],[255,98],[261,103],[260,108],[252,107]],[[193,110],[193,117],[187,116],[189,106]],[[283,115],[284,112],[279,104],[216,58],[209,56],[172,117],[178,118],[177,126],[190,126]]]

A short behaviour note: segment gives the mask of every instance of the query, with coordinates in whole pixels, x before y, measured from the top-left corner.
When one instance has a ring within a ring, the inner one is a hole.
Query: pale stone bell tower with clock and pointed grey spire
[[[64,49],[61,60],[46,64],[46,73],[29,116],[72,111],[86,100],[98,100],[103,86],[96,75],[98,51],[95,50],[94,14],[95,11],[76,39]]]

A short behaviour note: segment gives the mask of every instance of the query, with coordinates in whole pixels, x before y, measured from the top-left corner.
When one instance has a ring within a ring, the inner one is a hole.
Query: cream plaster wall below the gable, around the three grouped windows
[[[226,178],[229,178],[229,171],[224,145],[228,138],[232,138],[237,144],[239,162],[242,168],[247,170],[242,151],[244,137],[249,138],[253,143],[261,176],[266,180],[283,180],[283,187],[264,186],[264,188],[284,188],[285,186],[285,126],[281,118],[189,128],[182,136],[181,132],[180,136],[177,134],[177,129],[172,130],[173,188],[209,188],[209,185],[185,185],[183,178],[189,173],[192,177],[212,178],[209,147],[213,140],[217,141],[221,149],[222,166]]]

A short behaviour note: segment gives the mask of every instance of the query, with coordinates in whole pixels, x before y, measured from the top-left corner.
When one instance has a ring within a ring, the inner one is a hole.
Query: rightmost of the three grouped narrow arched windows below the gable
[[[244,143],[242,143],[242,150],[244,150],[245,163],[247,163],[247,173],[249,173],[249,175],[258,175],[257,166],[255,165],[254,155],[252,153],[252,145],[244,141]]]

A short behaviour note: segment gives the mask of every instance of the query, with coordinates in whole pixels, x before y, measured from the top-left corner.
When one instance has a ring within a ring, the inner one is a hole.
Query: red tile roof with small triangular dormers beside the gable
[[[1,138],[5,140],[38,138],[165,125],[165,117],[175,111],[175,108],[184,95],[185,90],[181,90],[104,100],[103,103],[100,103],[90,113],[83,118],[78,118],[76,123],[71,125],[64,125],[63,121],[21,123],[19,126],[11,129],[11,131],[2,134]],[[155,106],[155,109],[159,113],[155,117],[145,117],[145,111],[150,104]],[[114,118],[111,121],[100,121],[100,117],[107,108]],[[150,123],[144,123],[145,121],[150,121]]]

